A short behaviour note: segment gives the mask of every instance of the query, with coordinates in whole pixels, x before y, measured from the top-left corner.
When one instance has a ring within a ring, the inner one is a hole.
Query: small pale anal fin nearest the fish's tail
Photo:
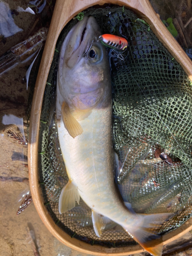
[[[98,214],[96,211],[92,210],[92,221],[93,221],[93,228],[97,235],[97,237],[101,237],[102,231],[104,230],[106,224],[111,222],[111,220],[107,217],[104,217]]]

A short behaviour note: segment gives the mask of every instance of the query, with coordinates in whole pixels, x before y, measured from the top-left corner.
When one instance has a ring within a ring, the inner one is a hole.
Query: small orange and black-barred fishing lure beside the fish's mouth
[[[99,41],[101,41],[101,43],[104,46],[110,47],[118,51],[124,51],[128,46],[128,42],[125,38],[116,36],[116,35],[110,35],[110,34],[100,35]]]

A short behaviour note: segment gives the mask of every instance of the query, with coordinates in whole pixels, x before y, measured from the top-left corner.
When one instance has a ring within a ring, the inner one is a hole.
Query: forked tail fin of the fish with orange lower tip
[[[137,214],[137,222],[132,227],[123,226],[126,232],[131,233],[134,240],[139,243],[147,252],[154,256],[161,256],[163,245],[162,238],[156,234],[158,226],[173,214]]]

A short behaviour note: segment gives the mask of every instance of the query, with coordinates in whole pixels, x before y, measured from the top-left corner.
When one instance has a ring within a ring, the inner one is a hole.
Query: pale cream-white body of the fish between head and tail
[[[58,105],[59,108],[59,105]],[[82,200],[99,214],[118,224],[127,220],[129,211],[114,183],[111,106],[93,109],[79,121],[83,133],[72,138],[57,109],[58,135],[69,179],[78,187]]]

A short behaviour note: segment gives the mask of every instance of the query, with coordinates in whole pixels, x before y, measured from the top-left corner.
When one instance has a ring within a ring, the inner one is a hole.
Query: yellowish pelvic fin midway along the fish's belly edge
[[[68,181],[67,185],[63,187],[59,196],[59,213],[62,214],[75,207],[75,201],[79,204],[80,196],[78,188],[73,182]]]

